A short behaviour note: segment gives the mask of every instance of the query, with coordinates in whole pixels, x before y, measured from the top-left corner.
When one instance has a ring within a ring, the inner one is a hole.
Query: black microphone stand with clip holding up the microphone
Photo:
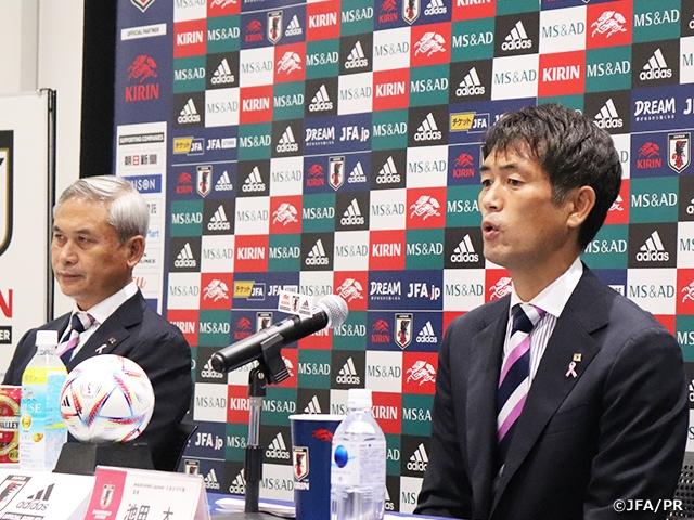
[[[260,444],[260,414],[262,412],[262,398],[266,395],[266,386],[283,381],[290,377],[284,360],[282,359],[282,343],[284,338],[279,334],[270,336],[260,343],[262,358],[258,360],[258,366],[248,375],[248,444],[246,445],[246,458],[244,461],[244,474],[246,478],[246,502],[244,512],[230,515],[215,515],[219,520],[277,520],[273,515],[258,512],[258,499],[260,496],[260,481],[262,480],[262,445]]]

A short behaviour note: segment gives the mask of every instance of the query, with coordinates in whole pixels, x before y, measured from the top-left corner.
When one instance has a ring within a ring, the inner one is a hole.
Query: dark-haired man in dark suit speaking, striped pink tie
[[[619,192],[612,140],[551,104],[504,115],[483,155],[484,252],[513,291],[446,332],[415,511],[664,518],[686,439],[682,354],[579,260]]]

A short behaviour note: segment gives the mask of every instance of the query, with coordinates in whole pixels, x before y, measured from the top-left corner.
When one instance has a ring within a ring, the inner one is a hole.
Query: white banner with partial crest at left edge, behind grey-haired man
[[[55,92],[0,96],[0,370],[22,335],[52,317],[49,198],[55,172]],[[50,122],[49,122],[50,121]],[[16,273],[16,274],[14,274]],[[50,281],[49,281],[50,276]]]

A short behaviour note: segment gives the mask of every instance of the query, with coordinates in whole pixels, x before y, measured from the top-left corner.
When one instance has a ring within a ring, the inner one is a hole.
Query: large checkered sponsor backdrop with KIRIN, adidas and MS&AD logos
[[[185,469],[244,492],[248,370],[209,355],[283,318],[281,289],[335,292],[345,325],[284,349],[291,377],[268,388],[261,496],[293,496],[287,416],[344,413],[367,387],[387,508],[413,509],[444,330],[510,290],[481,256],[480,138],[527,104],[613,135],[622,190],[583,260],[694,361],[693,15],[680,0],[120,0],[116,168],[151,203],[140,286],[193,349]]]

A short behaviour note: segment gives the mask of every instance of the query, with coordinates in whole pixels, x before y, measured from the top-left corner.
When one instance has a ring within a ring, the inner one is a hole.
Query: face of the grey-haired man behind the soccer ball
[[[133,260],[132,238],[118,245],[104,204],[72,198],[59,208],[51,243],[53,273],[63,294],[81,310],[125,287],[138,260],[139,256]]]

